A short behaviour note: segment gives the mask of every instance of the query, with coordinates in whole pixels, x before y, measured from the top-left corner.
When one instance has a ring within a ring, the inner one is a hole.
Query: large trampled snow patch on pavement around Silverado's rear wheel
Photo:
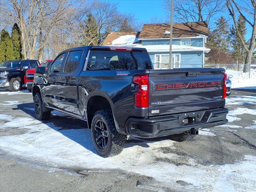
[[[128,142],[120,155],[102,158],[93,148],[88,129],[62,130],[52,123],[44,124],[33,118],[21,119],[5,114],[1,114],[0,118],[4,121],[1,129],[28,130],[18,136],[2,136],[1,150],[48,166],[124,170],[153,177],[175,191],[252,192],[256,186],[256,158],[253,156],[245,156],[244,161],[236,164],[204,166],[194,159],[188,159],[191,166],[176,166],[170,162],[154,161],[158,157],[169,160],[177,158],[178,154],[175,152],[166,154],[158,150],[160,147],[175,148],[174,141],[158,140],[145,143],[137,138],[141,144]],[[206,136],[214,136],[210,129],[200,132]],[[181,186],[176,183],[177,180],[189,185]]]

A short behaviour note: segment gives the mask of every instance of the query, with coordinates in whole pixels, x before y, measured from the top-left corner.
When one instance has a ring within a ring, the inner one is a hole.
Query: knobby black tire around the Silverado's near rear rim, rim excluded
[[[101,149],[97,145],[94,138],[94,134],[96,133],[94,128],[98,120],[104,122],[108,135],[106,147],[103,149]],[[94,114],[91,124],[91,136],[94,148],[96,149],[98,154],[105,158],[120,154],[124,148],[124,144],[126,141],[126,135],[120,134],[116,131],[116,126],[114,124],[114,118],[111,110],[99,110]]]

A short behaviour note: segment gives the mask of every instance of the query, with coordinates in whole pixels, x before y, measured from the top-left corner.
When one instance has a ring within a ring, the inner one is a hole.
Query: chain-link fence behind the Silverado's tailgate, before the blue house
[[[172,64],[172,67],[169,67],[169,64],[153,64],[154,69],[172,69],[172,68],[224,68],[226,73],[229,75],[241,74],[248,76],[248,78],[255,77],[256,75],[256,65],[254,64]],[[244,72],[246,71],[246,72]]]

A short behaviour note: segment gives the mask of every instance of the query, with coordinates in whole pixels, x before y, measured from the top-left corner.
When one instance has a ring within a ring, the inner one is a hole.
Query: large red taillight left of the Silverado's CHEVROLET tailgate
[[[148,75],[134,76],[133,82],[139,85],[139,90],[135,94],[135,105],[148,107]]]

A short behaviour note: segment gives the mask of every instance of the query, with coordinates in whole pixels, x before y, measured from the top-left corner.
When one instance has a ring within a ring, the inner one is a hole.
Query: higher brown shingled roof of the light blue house
[[[173,23],[172,37],[208,36],[206,22]],[[139,39],[170,38],[170,24],[144,24]]]

